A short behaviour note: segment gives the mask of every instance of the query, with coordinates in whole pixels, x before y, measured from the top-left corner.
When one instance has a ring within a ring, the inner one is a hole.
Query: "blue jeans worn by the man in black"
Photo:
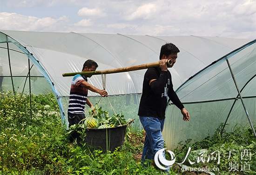
[[[155,153],[159,149],[164,148],[164,140],[162,136],[164,120],[165,119],[160,120],[155,117],[140,116],[141,124],[147,133],[141,156],[142,162],[146,159],[154,160]]]

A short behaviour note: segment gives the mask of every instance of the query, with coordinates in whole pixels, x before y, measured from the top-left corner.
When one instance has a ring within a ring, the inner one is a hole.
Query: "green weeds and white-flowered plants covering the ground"
[[[68,142],[53,94],[32,95],[30,113],[29,95],[0,93],[0,175],[167,175],[154,164],[141,165],[143,130],[128,128],[122,148],[103,153]],[[176,162],[182,162],[191,148],[184,165],[218,169],[212,171],[215,175],[256,174],[256,139],[248,126],[237,125],[222,135],[216,128],[215,135],[192,142],[184,141],[172,150]],[[218,150],[220,162],[198,161],[195,150],[207,150],[208,155]],[[169,174],[207,175],[184,171],[178,165]]]

